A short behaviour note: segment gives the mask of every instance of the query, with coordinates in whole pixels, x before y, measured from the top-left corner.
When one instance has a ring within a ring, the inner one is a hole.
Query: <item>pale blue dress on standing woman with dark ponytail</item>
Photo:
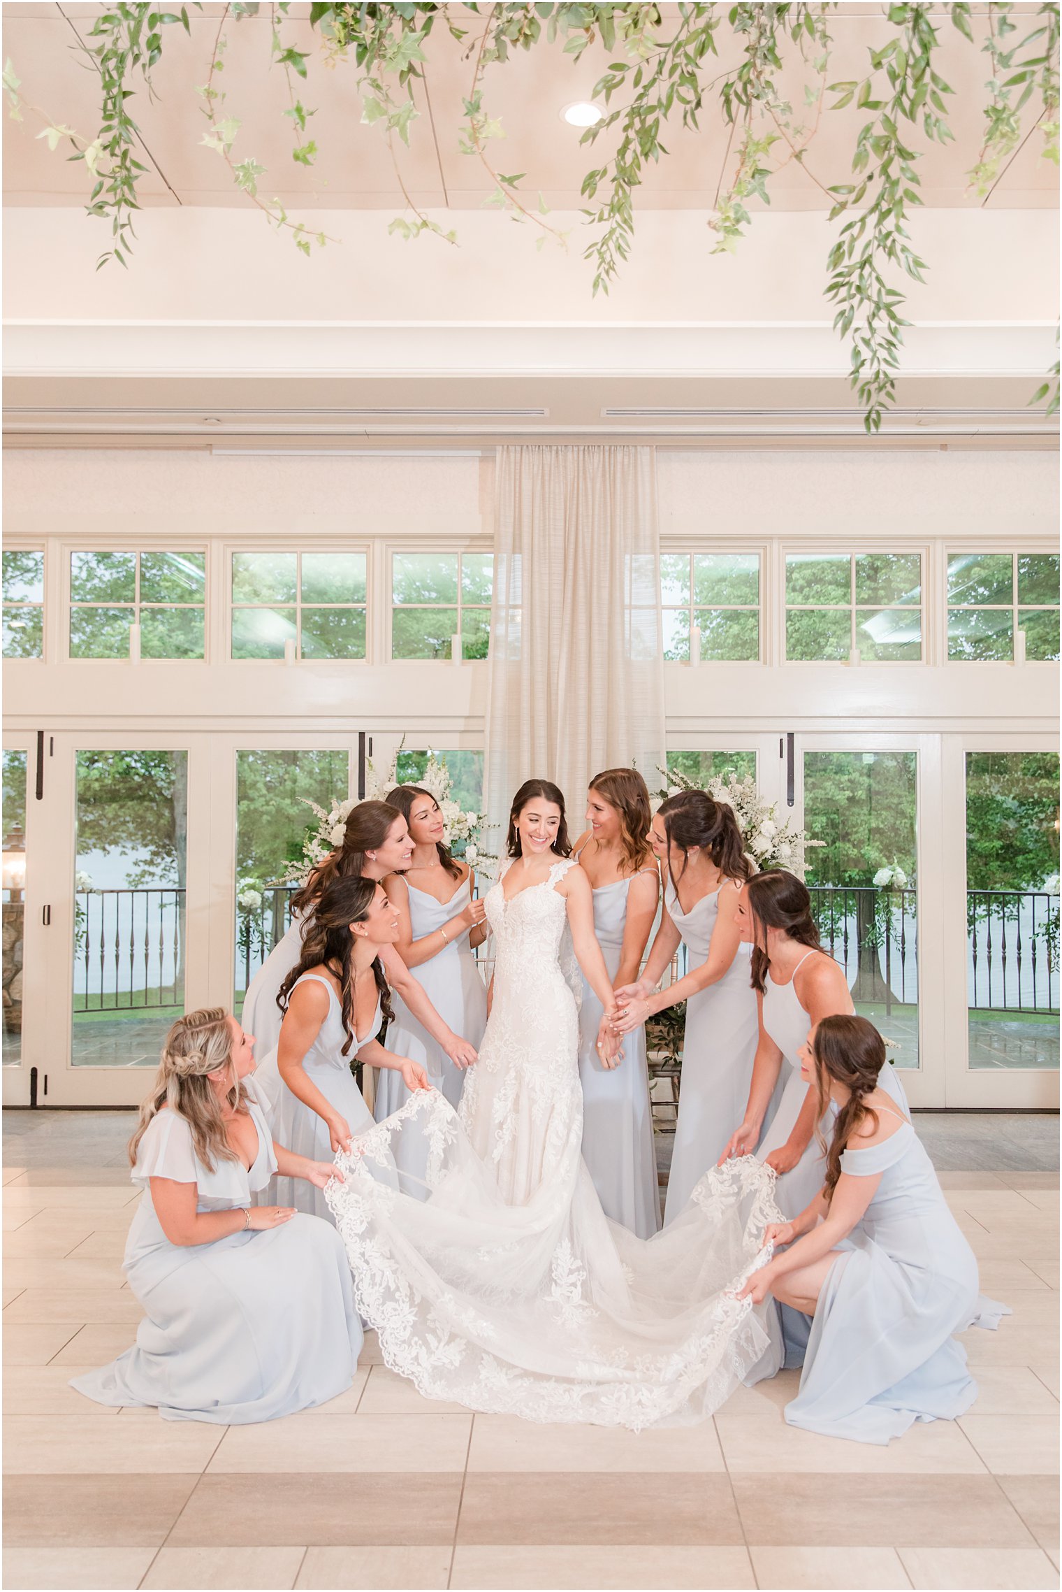
[[[690,952],[690,968],[707,960],[719,917],[719,890],[684,912],[668,880],[671,922]],[[682,1087],[676,1122],[665,1226],[679,1215],[695,1186],[722,1156],[749,1100],[760,1035],[752,989],[750,946],[738,946],[722,979],[685,1003]]]

